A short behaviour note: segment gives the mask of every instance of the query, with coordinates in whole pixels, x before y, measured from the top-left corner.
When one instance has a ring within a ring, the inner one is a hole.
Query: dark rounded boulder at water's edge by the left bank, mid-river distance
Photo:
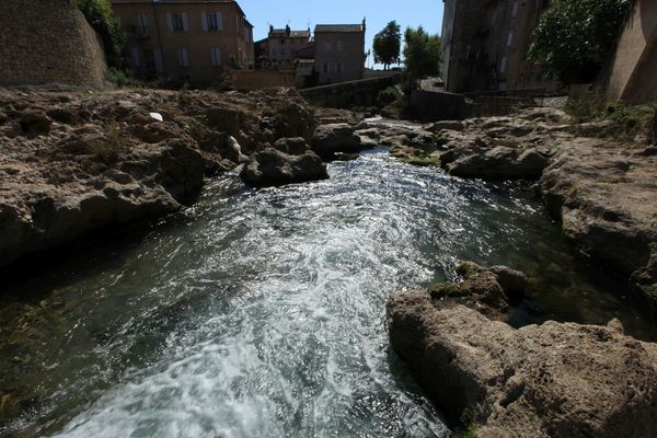
[[[290,143],[293,145],[293,142]],[[311,150],[300,154],[289,154],[267,148],[251,157],[249,163],[244,165],[241,176],[251,186],[268,187],[326,180],[328,173],[326,164]]]

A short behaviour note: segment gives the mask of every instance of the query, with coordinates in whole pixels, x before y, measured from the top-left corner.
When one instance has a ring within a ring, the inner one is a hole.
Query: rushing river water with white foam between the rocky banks
[[[529,188],[385,150],[330,173],[260,191],[223,177],[148,235],[4,285],[0,435],[447,436],[388,347],[384,307],[460,260],[528,273],[518,324],[618,316],[654,337]]]

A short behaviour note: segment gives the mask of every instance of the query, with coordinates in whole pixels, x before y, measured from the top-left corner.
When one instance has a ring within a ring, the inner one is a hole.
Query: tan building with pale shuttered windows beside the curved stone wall
[[[231,0],[111,0],[129,41],[128,65],[146,80],[217,81],[253,66],[253,26]]]

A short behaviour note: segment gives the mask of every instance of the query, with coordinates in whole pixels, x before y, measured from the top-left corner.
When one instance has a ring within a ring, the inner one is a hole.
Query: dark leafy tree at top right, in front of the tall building
[[[593,81],[630,5],[630,0],[554,0],[534,31],[529,58],[565,84]]]

